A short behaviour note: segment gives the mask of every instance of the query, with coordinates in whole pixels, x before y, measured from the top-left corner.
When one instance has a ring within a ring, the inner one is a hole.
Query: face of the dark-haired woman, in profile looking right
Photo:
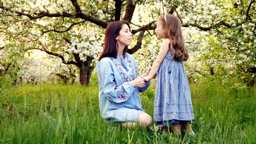
[[[130,32],[129,27],[124,24],[119,31],[119,35],[115,38],[118,41],[119,46],[128,46],[131,44],[132,33]]]

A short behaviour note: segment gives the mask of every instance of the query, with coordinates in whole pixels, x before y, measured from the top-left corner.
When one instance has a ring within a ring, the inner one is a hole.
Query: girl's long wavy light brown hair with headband
[[[166,21],[165,21],[166,16]],[[169,49],[173,46],[175,53],[173,59],[175,61],[187,61],[188,60],[188,50],[184,45],[183,35],[181,26],[182,23],[177,16],[165,15],[158,17],[158,20],[162,23],[162,28],[164,28],[166,38],[171,42],[169,44]],[[172,53],[173,54],[173,53]]]

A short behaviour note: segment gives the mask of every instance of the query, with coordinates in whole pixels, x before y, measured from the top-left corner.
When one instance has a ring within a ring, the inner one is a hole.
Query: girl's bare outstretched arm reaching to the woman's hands
[[[169,48],[169,43],[170,40],[169,39],[165,39],[160,47],[160,51],[158,53],[158,57],[156,57],[151,70],[149,71],[149,74],[147,76],[144,76],[143,79],[146,81],[151,80],[155,74],[157,73],[162,61],[164,60],[166,53],[168,52],[168,48]]]

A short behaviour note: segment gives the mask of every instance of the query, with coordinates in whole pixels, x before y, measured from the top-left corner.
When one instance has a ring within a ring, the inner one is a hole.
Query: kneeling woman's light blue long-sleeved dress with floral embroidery
[[[137,77],[137,62],[129,53],[125,57],[104,57],[97,64],[100,113],[103,118],[113,122],[135,122],[142,109],[139,92],[145,87],[133,87],[132,80]]]

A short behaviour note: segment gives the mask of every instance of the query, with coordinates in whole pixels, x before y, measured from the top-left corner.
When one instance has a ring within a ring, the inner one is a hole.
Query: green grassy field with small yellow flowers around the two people
[[[108,125],[99,115],[97,84],[2,87],[0,143],[256,143],[255,93],[254,87],[191,85],[197,136],[176,137]],[[154,84],[141,98],[153,116]]]

